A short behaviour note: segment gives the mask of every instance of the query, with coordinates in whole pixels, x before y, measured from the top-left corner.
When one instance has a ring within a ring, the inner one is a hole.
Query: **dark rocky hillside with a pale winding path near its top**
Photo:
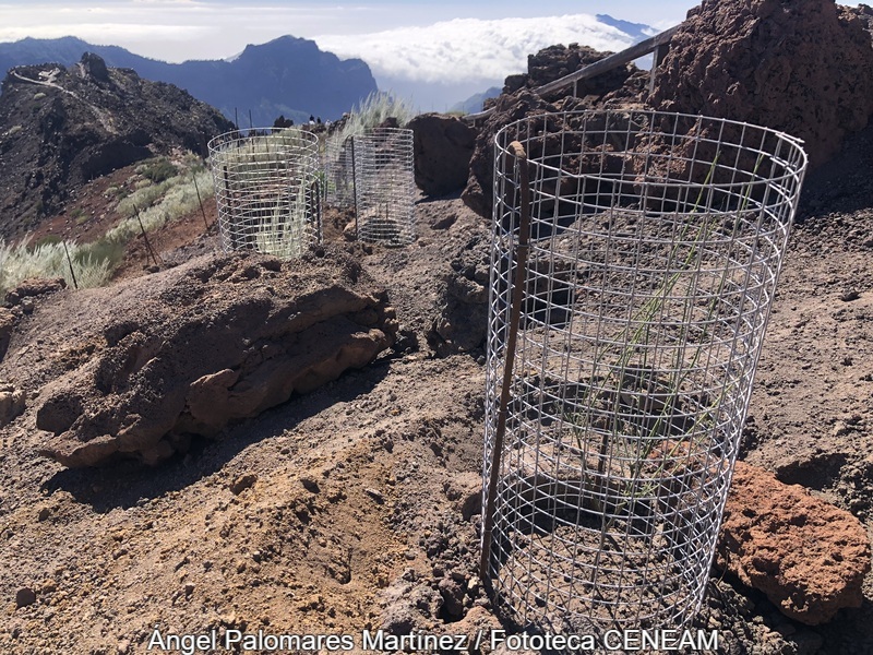
[[[23,236],[91,179],[174,150],[204,153],[232,127],[187,92],[95,55],[13,69],[0,96],[0,236]]]

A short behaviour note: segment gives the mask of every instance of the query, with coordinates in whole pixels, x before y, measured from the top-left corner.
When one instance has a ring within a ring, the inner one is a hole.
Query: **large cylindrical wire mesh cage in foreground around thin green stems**
[[[482,563],[497,605],[554,632],[687,626],[805,154],[773,130],[650,111],[537,116],[494,145]]]

